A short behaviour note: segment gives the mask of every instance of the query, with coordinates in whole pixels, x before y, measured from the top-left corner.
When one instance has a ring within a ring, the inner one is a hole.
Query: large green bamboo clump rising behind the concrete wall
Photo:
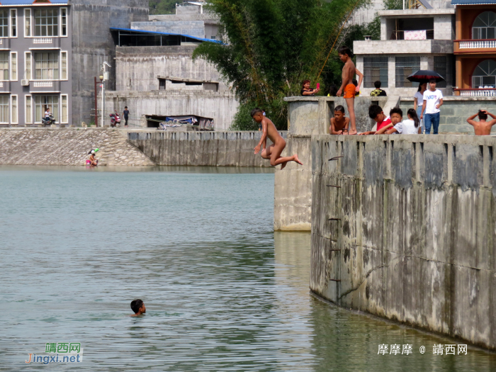
[[[193,58],[212,62],[232,82],[241,103],[239,113],[265,108],[283,129],[283,98],[298,96],[303,79],[325,88],[329,72],[334,76],[342,66],[335,50],[342,45],[339,35],[346,20],[365,4],[367,0],[211,0],[210,9],[220,16],[227,38],[223,45],[199,45]]]

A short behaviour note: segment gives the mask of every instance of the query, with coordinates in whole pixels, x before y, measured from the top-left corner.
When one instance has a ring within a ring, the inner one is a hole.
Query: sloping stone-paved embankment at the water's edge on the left
[[[84,165],[88,152],[98,147],[100,165],[154,165],[112,129],[2,129],[0,165]]]

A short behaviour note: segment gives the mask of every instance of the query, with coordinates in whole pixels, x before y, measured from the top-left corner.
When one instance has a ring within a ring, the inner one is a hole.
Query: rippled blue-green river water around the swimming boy
[[[0,167],[0,189],[0,371],[496,371],[313,297],[310,234],[274,233],[271,171]],[[65,343],[81,361],[26,363]]]

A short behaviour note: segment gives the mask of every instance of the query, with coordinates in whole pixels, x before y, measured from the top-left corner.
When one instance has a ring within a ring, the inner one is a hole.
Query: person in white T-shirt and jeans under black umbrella
[[[410,81],[418,81],[419,83],[429,81],[429,89],[424,91],[424,102],[422,103],[420,120],[424,120],[426,135],[431,133],[431,128],[433,128],[434,135],[438,134],[441,112],[439,108],[443,105],[443,94],[439,89],[436,89],[436,82],[443,81],[444,77],[441,77],[441,75],[435,71],[421,69],[414,74],[411,74],[407,79]]]

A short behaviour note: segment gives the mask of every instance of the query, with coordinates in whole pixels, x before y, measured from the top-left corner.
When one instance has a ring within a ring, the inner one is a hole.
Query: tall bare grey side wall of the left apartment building
[[[147,21],[148,0],[72,0],[72,123],[94,121],[94,77],[106,60],[113,67],[107,89],[115,89],[115,43],[109,28]]]

